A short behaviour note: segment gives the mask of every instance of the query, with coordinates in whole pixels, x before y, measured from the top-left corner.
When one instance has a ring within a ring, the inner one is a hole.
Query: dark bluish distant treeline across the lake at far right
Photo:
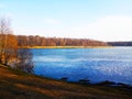
[[[132,42],[108,42],[112,46],[132,46]]]

